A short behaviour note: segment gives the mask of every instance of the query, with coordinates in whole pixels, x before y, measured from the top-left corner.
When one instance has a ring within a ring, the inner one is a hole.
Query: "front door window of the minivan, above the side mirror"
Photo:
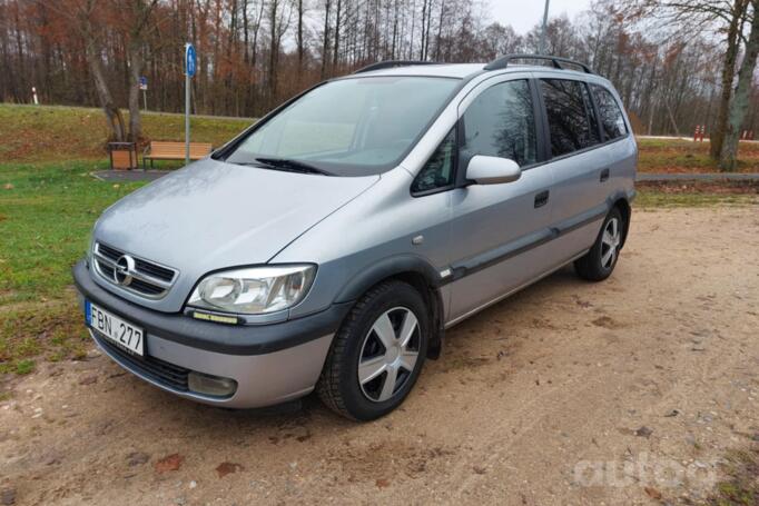
[[[495,85],[464,112],[467,155],[510,158],[520,166],[538,160],[535,119],[526,80]]]

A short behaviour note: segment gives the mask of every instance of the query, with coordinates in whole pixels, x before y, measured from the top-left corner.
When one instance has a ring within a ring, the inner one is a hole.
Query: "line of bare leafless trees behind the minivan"
[[[635,131],[671,135],[706,123],[713,135],[721,103],[736,89],[751,1],[592,0],[579,18],[550,19],[548,42],[558,56],[586,61],[611,79]],[[129,105],[130,121],[138,118],[142,75],[151,83],[152,108],[180,111],[181,48],[188,38],[198,50],[195,110],[245,116],[265,113],[319,79],[382,59],[484,63],[534,49],[536,30],[518,34],[487,19],[479,4],[339,0],[337,9],[337,0],[0,0],[0,98],[29,101],[37,85],[46,101],[102,107],[112,138],[138,138],[139,129],[125,127],[118,106]],[[669,10],[641,14],[641,4]],[[728,11],[742,4],[747,14],[736,24],[731,67]],[[140,17],[132,6],[138,14],[140,7],[151,7],[137,37]],[[315,37],[310,23],[318,23]],[[748,100],[736,131],[759,130],[756,86],[749,86]]]

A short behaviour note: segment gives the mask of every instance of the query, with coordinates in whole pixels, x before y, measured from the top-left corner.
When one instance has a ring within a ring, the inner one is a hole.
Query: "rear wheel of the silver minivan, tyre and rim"
[[[574,270],[589,281],[602,281],[611,276],[622,247],[624,219],[618,208],[612,208],[603,220],[595,242],[585,256],[574,260]]]

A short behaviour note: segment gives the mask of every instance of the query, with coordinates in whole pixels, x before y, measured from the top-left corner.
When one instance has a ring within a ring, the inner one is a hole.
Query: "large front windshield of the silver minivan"
[[[427,77],[327,82],[256,128],[226,161],[335,176],[383,172],[411,150],[459,82]]]

